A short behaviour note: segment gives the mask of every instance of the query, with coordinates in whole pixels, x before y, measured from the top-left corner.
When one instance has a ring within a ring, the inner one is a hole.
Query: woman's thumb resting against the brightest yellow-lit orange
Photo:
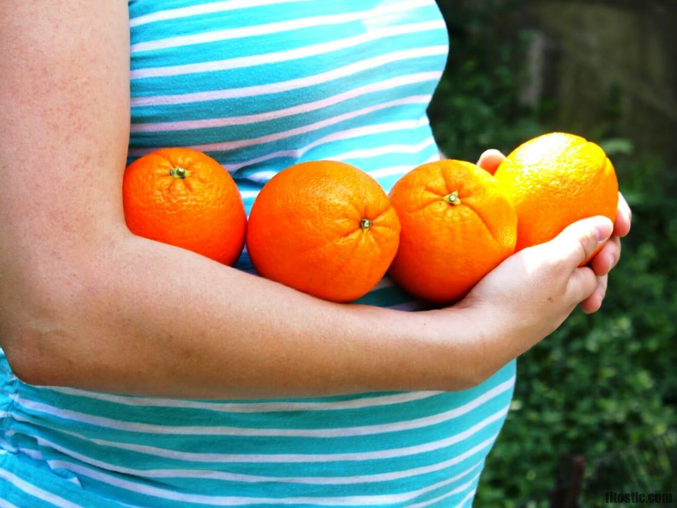
[[[612,232],[613,222],[603,215],[575,221],[550,240],[552,258],[565,263],[573,272],[609,239]]]

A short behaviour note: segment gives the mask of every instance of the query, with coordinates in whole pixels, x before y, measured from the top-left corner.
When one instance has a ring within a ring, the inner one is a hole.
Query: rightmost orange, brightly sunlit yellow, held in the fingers
[[[515,148],[494,176],[517,211],[517,251],[552,240],[586,217],[615,220],[613,165],[602,148],[583,137],[562,132],[534,137]]]

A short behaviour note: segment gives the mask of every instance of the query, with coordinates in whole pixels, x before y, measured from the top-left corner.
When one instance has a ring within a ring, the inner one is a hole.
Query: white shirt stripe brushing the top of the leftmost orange
[[[227,141],[220,143],[209,143],[202,145],[192,145],[190,148],[198,150],[200,152],[221,152],[226,150],[235,150],[236,148],[244,148],[245,146],[255,146],[259,144],[270,143],[274,141],[284,140],[286,137],[293,137],[299,134],[305,134],[312,131],[317,131],[324,127],[334,125],[336,123],[343,122],[345,120],[351,120],[357,117],[361,117],[364,114],[369,114],[375,111],[380,111],[387,108],[392,108],[393,106],[406,106],[408,104],[428,104],[432,96],[429,94],[403,97],[401,99],[391,100],[389,102],[383,102],[383,104],[375,104],[374,106],[368,106],[367,108],[362,108],[359,110],[354,110],[344,114],[338,114],[335,117],[328,118],[326,120],[321,120],[319,122],[310,123],[297,127],[295,129],[289,129],[288,131],[276,132],[273,134],[267,134],[265,136],[253,137],[246,140],[237,140],[237,141]],[[141,156],[147,153],[153,152],[156,148],[133,148],[129,150],[129,155],[132,156]],[[229,170],[232,171],[232,167],[229,167]]]

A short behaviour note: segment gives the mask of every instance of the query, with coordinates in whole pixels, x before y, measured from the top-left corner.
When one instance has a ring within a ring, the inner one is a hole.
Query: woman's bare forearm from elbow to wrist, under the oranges
[[[8,353],[28,382],[185,398],[474,384],[471,327],[453,311],[443,337],[424,312],[323,301],[131,234],[100,244],[32,267],[59,276],[32,284]]]

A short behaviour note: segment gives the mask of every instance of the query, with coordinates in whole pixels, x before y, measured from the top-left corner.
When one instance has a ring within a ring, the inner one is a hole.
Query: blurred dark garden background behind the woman
[[[677,505],[677,2],[438,5],[450,56],[429,117],[446,156],[582,135],[633,211],[601,310],[576,310],[518,359],[475,505],[597,507],[609,491]]]

